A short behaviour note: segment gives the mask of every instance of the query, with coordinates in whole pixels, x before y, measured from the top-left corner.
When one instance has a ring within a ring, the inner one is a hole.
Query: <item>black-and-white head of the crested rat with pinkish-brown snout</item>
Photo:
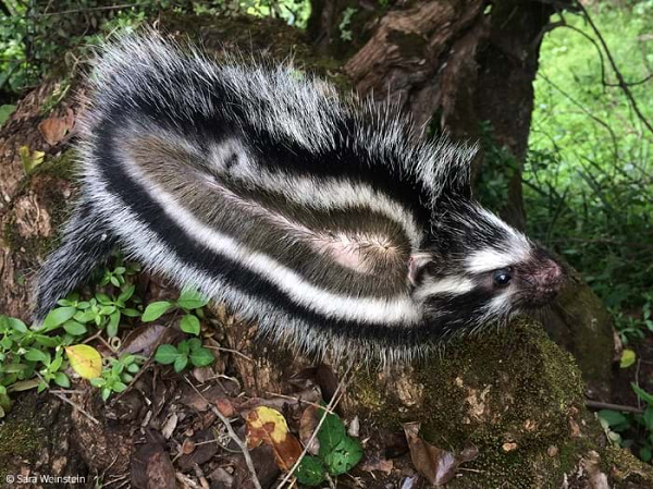
[[[410,259],[414,297],[445,331],[543,307],[565,281],[546,250],[471,197],[468,175],[459,164],[443,171],[430,230]]]

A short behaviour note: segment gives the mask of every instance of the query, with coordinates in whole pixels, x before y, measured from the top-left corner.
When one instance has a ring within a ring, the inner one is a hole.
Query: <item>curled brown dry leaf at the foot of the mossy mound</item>
[[[477,457],[478,450],[476,447],[468,447],[459,455],[455,455],[427,443],[419,437],[419,423],[406,423],[404,424],[404,432],[410,449],[412,464],[429,484],[442,486],[448,482],[456,474],[460,463]]]

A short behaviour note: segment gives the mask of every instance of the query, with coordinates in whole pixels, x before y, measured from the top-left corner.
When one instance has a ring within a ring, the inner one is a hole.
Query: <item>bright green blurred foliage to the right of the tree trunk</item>
[[[628,340],[653,326],[653,1],[591,14],[644,121],[587,21],[554,19],[566,25],[542,46],[525,206],[531,233],[582,272]]]

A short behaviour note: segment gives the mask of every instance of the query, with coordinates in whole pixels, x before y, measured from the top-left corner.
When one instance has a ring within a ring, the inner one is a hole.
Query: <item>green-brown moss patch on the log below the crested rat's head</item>
[[[406,389],[415,381],[402,387],[402,375],[393,375],[387,389],[373,374],[358,372],[357,404],[386,429],[420,420],[420,435],[436,447],[475,444],[480,455],[466,466],[483,474],[477,478],[483,487],[504,480],[532,487],[538,474],[562,477],[576,463],[569,454],[581,439],[568,440],[570,419],[583,404],[580,371],[537,325],[521,319],[451,342],[409,374],[419,383],[414,392]],[[558,448],[553,457],[546,454],[552,445]]]

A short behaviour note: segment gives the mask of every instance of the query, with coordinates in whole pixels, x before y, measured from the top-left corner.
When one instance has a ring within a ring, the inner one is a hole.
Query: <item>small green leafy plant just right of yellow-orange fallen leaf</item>
[[[320,415],[325,416],[318,431],[320,451],[317,456],[301,459],[295,473],[297,480],[306,486],[318,486],[329,476],[346,474],[362,457],[360,441],[347,435],[340,416],[324,409],[320,409]]]

